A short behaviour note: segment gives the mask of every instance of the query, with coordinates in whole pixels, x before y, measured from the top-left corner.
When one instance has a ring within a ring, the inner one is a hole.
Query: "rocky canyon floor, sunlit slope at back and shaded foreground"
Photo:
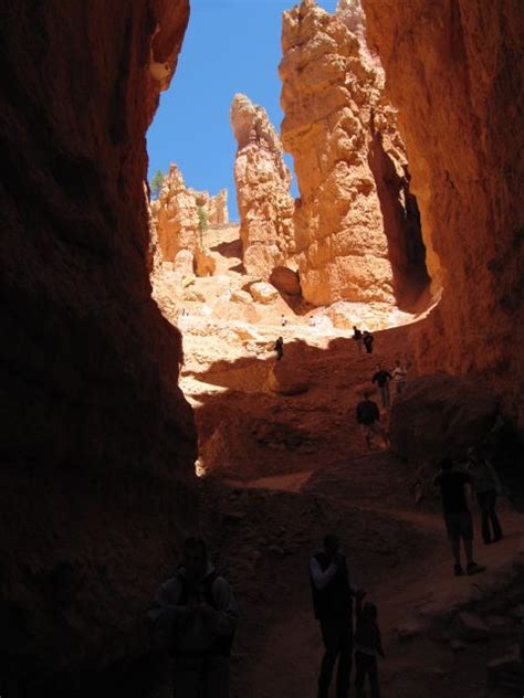
[[[419,499],[418,464],[379,444],[368,453],[355,424],[377,361],[409,364],[400,324],[417,318],[354,308],[356,324],[378,330],[374,355],[359,355],[353,321],[334,327],[328,309],[285,296],[254,302],[237,235],[234,226],[208,231],[216,276],[182,279],[182,292],[168,265],[154,278],[159,306],[184,332],[180,385],[199,430],[203,526],[242,606],[232,696],[315,695],[322,645],[307,559],[329,530],[378,604],[385,696],[521,695],[501,680],[488,687],[486,666],[513,652],[524,618],[522,514],[503,499],[504,540],[476,543],[488,572],[455,579],[439,503]],[[290,382],[303,391],[277,392]]]

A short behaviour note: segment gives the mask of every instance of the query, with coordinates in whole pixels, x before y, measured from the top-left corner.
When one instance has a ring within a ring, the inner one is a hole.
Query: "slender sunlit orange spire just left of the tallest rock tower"
[[[238,94],[231,126],[238,142],[234,181],[243,264],[248,274],[268,281],[294,251],[291,172],[265,109]]]

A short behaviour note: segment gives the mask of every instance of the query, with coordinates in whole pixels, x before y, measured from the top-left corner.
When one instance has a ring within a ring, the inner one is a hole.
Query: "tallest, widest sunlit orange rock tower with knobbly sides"
[[[402,303],[413,253],[407,159],[358,2],[331,15],[313,1],[284,12],[282,124],[301,198],[294,223],[304,297]],[[420,245],[419,245],[420,247]],[[423,278],[422,278],[423,282]]]

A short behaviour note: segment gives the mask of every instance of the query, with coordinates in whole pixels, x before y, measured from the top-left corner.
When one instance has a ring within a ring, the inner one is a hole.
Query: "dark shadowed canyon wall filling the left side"
[[[122,662],[113,695],[144,696],[124,658],[144,654],[144,607],[195,524],[181,337],[150,297],[144,192],[188,14],[2,3],[2,695],[103,696],[96,673]]]

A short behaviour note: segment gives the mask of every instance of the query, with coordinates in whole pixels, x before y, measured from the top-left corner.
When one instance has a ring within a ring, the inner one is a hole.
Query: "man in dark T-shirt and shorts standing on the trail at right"
[[[451,458],[440,462],[440,473],[433,478],[433,486],[440,487],[442,495],[442,512],[454,558],[455,577],[464,573],[460,561],[460,539],[464,546],[468,574],[485,571],[485,567],[473,560],[473,521],[465,497],[465,486],[471,485],[472,479],[469,473],[455,468]]]

